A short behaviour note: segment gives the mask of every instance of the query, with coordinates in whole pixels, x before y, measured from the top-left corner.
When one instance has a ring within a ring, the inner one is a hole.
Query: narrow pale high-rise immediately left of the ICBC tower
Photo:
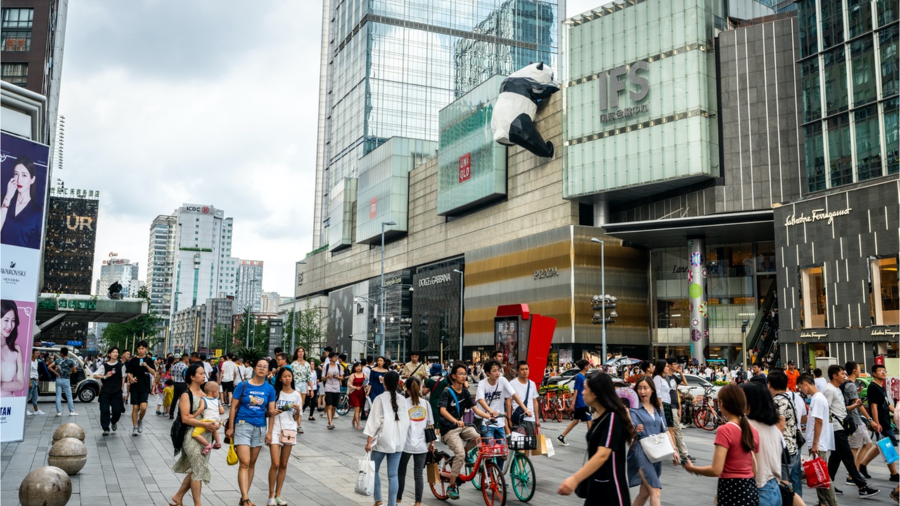
[[[169,324],[172,312],[172,279],[175,272],[175,216],[160,214],[150,223],[147,252],[147,290],[150,307],[162,319],[160,325]]]

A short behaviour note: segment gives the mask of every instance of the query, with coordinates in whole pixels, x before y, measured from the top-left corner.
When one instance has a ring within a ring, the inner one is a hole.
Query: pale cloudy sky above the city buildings
[[[320,20],[316,0],[69,2],[56,176],[101,192],[94,277],[114,251],[146,279],[150,222],[211,204],[234,218],[232,255],[292,294],[312,244]]]

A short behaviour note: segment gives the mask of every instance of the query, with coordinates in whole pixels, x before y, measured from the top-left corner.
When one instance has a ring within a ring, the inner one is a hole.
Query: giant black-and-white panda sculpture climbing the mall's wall
[[[553,157],[554,145],[535,128],[537,102],[559,91],[554,69],[544,62],[532,63],[513,72],[500,84],[500,97],[491,116],[494,140],[506,146],[521,146],[538,157]]]

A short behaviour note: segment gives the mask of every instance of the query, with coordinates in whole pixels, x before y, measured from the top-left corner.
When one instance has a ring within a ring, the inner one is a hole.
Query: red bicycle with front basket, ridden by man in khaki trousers
[[[471,482],[476,476],[481,483],[482,497],[487,506],[504,506],[506,504],[507,484],[503,477],[503,470],[494,460],[495,457],[506,458],[509,448],[506,441],[498,442],[494,438],[478,438],[478,453],[475,456],[471,470],[468,474],[456,476],[456,485]],[[453,465],[454,456],[445,452],[437,452],[437,465],[440,467],[440,481],[428,483],[431,493],[437,499],[446,501],[450,498],[447,489],[450,488],[450,468]]]

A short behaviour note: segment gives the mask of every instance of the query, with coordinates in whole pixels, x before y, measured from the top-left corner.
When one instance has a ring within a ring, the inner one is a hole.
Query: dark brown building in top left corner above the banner
[[[0,79],[47,97],[40,139],[53,144],[66,39],[67,0],[3,3]]]

